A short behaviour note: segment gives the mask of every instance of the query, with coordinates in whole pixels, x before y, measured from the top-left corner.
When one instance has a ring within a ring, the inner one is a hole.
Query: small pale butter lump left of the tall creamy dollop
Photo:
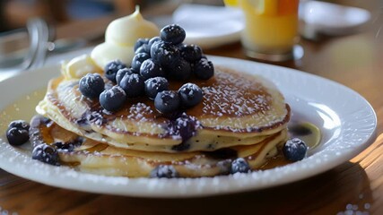
[[[61,68],[65,79],[80,79],[87,73],[102,73],[102,70],[94,64],[89,55],[76,56]]]

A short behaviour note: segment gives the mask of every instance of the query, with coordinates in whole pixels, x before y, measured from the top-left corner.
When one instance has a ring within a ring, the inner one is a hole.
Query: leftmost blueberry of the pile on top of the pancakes
[[[79,90],[84,97],[95,99],[104,90],[105,82],[98,73],[87,73],[79,82]]]

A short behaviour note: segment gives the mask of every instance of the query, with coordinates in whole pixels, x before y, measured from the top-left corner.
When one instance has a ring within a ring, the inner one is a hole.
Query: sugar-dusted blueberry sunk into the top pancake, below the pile
[[[194,116],[188,116],[183,113],[176,119],[172,120],[168,133],[172,136],[180,136],[183,142],[196,135],[196,130],[201,126],[199,121]]]

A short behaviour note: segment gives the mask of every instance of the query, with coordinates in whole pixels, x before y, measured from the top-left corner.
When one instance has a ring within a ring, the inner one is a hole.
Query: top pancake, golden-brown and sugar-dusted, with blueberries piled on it
[[[118,149],[176,153],[254,145],[281,133],[290,118],[290,107],[273,83],[222,67],[216,67],[208,81],[190,81],[204,92],[200,104],[167,117],[146,98],[128,99],[114,113],[104,111],[97,99],[82,96],[78,81],[64,77],[50,81],[37,112],[65,130]],[[181,85],[172,81],[170,90]],[[170,129],[180,116],[193,119],[191,138]]]

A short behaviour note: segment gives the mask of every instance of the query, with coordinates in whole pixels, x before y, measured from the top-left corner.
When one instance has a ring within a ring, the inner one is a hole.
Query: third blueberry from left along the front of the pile
[[[144,78],[136,73],[126,74],[119,86],[125,91],[126,98],[134,98],[144,94]]]

